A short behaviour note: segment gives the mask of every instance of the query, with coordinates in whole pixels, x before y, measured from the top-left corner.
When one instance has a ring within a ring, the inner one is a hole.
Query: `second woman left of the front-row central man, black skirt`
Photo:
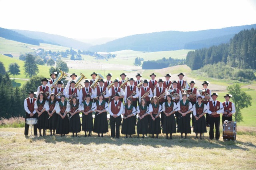
[[[83,113],[82,116],[82,130],[84,130],[84,137],[87,136],[86,131],[88,131],[88,136],[90,137],[93,130],[92,123],[92,105],[93,103],[90,101],[91,95],[86,95],[85,101],[83,101],[80,110]]]

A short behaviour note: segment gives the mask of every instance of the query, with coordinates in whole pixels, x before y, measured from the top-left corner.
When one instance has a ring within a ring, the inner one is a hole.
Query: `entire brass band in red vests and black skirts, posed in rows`
[[[108,132],[109,113],[113,138],[120,137],[120,125],[121,133],[126,138],[136,134],[135,125],[138,137],[140,134],[142,138],[152,134],[152,138],[158,138],[162,128],[167,139],[172,139],[172,134],[176,132],[180,132],[181,138],[183,134],[187,138],[187,134],[191,133],[192,117],[196,138],[199,133],[199,138],[202,139],[206,127],[210,127],[209,136],[213,139],[215,125],[215,138],[219,140],[220,114],[222,113],[223,125],[225,120],[232,121],[232,115],[236,112],[234,103],[229,101],[232,95],[225,95],[226,101],[221,103],[217,101],[218,94],[208,89],[208,81],[202,83],[202,89],[196,89],[194,81],[188,85],[183,80],[183,73],[178,74],[177,81],[170,81],[170,74],[164,76],[165,81],[157,81],[154,73],[150,74],[150,80],[141,80],[140,73],[135,75],[136,79],[129,79],[122,73],[120,81],[112,81],[112,74],[108,73],[107,80],[104,81],[102,75],[95,72],[91,74],[91,80],[82,73],[80,77],[73,73],[70,75],[72,80],[68,81],[66,87],[60,81],[66,73],[60,71],[56,76],[57,72],[54,72],[50,74],[50,80],[42,79],[42,85],[36,92],[37,98],[34,98],[34,91],[30,91],[29,97],[24,101],[26,120],[37,119],[34,125],[35,136],[38,128],[40,136],[45,136],[49,129],[50,136],[65,136],[72,132],[72,136],[77,137],[78,132],[83,130],[84,136],[87,136],[87,132],[91,136],[93,131],[98,137],[103,137]],[[81,82],[84,79],[83,86]],[[25,135],[28,135],[28,128],[29,125],[26,124]]]

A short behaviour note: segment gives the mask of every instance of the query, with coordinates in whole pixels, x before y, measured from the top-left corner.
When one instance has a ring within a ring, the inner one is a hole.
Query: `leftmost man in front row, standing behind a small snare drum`
[[[29,97],[24,100],[24,109],[26,111],[25,121],[27,121],[28,118],[36,119],[36,114],[35,114],[36,110],[34,108],[36,98],[34,98],[34,91],[30,91],[28,95]],[[34,136],[37,136],[37,124],[35,124],[33,127],[34,127]],[[26,136],[28,135],[28,129],[29,129],[29,125],[25,124],[24,134]]]

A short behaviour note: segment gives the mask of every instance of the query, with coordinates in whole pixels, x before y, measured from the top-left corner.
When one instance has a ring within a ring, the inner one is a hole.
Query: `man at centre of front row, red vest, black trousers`
[[[114,100],[109,103],[110,109],[108,110],[110,114],[110,129],[111,137],[119,138],[120,136],[120,123],[122,121],[121,114],[124,110],[123,103],[119,100],[118,93],[115,94]],[[116,128],[116,129],[115,129]]]

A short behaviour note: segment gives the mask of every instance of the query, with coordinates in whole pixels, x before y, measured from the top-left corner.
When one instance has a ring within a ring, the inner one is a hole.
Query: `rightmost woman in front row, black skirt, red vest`
[[[205,113],[207,111],[207,106],[202,103],[202,97],[197,97],[197,103],[193,106],[193,115],[194,115],[194,132],[196,133],[196,139],[197,134],[200,134],[200,139],[202,139],[202,133],[206,132],[206,121],[205,121]]]

